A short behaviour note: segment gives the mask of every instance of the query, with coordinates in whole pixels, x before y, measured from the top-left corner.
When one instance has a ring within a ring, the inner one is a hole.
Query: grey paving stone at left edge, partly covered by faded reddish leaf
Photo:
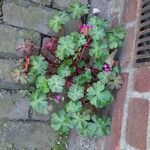
[[[17,54],[15,43],[21,37],[30,38],[38,46],[40,45],[41,38],[39,33],[0,24],[0,52]]]

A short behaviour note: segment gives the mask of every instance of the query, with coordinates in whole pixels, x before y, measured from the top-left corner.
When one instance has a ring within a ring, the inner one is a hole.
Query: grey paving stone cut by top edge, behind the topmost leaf
[[[77,0],[53,0],[53,7],[64,10],[74,2],[77,2]],[[88,0],[79,0],[79,2],[88,4]]]

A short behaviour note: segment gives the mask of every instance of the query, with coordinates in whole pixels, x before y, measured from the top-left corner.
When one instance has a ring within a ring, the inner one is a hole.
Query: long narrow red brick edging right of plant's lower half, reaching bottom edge
[[[119,150],[119,141],[121,136],[122,116],[124,109],[124,102],[126,98],[126,91],[128,85],[128,74],[123,74],[124,84],[117,92],[116,101],[112,105],[112,127],[111,134],[105,138],[105,150]],[[101,139],[98,147],[101,147]],[[99,149],[98,149],[99,150]]]

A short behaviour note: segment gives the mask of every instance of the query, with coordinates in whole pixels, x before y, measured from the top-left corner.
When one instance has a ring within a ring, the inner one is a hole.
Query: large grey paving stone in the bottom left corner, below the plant
[[[0,120],[0,150],[51,150],[56,141],[49,124]]]

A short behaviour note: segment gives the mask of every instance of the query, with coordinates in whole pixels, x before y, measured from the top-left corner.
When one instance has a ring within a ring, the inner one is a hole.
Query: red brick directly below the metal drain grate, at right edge
[[[150,67],[137,68],[134,76],[134,89],[136,91],[150,91]]]

